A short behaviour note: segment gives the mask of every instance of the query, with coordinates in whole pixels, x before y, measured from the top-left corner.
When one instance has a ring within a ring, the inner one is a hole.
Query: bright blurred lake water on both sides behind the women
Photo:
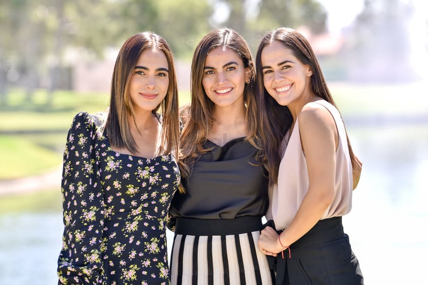
[[[426,283],[428,123],[350,123],[348,133],[363,171],[343,220],[365,284]],[[62,231],[60,212],[0,215],[0,284],[56,284]]]

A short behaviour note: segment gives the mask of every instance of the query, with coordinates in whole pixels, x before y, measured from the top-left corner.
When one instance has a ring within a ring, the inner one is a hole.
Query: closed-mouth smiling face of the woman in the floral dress
[[[130,96],[134,111],[152,111],[168,92],[168,60],[158,49],[145,49],[132,71]]]

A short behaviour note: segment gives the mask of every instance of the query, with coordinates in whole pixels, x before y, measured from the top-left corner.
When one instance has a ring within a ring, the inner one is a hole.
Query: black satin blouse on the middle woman
[[[201,219],[233,219],[263,216],[268,206],[268,179],[256,166],[257,149],[244,138],[219,146],[207,141],[188,179],[182,178],[186,193],[176,193],[173,216]],[[253,165],[252,165],[253,164]]]

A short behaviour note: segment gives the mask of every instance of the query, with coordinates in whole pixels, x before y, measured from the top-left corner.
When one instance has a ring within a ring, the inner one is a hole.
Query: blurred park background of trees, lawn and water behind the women
[[[217,26],[254,55],[272,28],[308,38],[363,162],[344,225],[365,284],[425,283],[427,11],[424,0],[0,1],[0,284],[57,282],[67,131],[77,112],[108,106],[121,44],[165,37],[184,104],[194,48]]]

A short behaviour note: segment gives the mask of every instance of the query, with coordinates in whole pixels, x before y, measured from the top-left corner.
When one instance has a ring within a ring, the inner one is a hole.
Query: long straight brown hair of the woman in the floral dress
[[[175,76],[174,59],[167,42],[161,36],[151,31],[143,31],[131,36],[120,48],[114,65],[111,79],[110,108],[105,125],[105,132],[111,145],[118,148],[127,148],[135,153],[138,150],[130,131],[128,117],[131,115],[135,122],[135,113],[131,102],[129,82],[138,58],[145,49],[156,48],[161,50],[168,61],[169,85],[167,94],[162,102],[152,110],[152,113],[161,109],[162,141],[161,153],[170,153],[178,150],[179,120],[178,120],[178,90]]]

